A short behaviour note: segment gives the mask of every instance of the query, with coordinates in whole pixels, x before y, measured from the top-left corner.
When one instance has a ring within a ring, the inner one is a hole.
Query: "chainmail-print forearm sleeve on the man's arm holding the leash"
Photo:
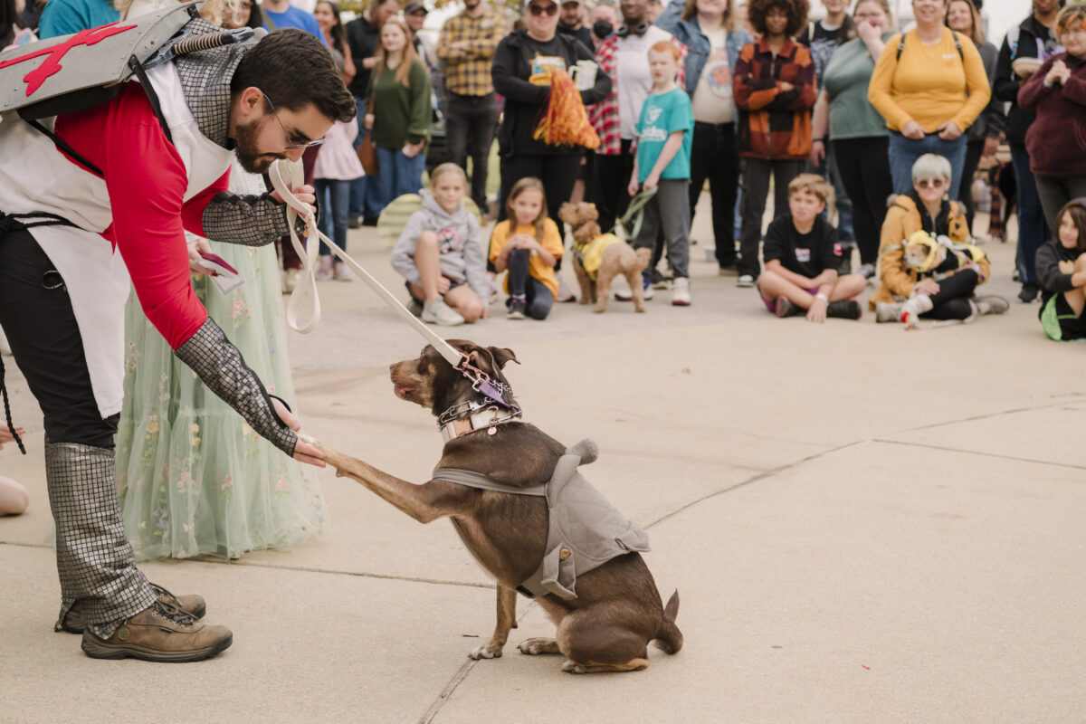
[[[245,246],[263,246],[290,233],[287,206],[267,194],[238,195],[216,193],[203,214],[204,236],[215,241]],[[294,225],[298,236],[305,236],[305,221]]]

